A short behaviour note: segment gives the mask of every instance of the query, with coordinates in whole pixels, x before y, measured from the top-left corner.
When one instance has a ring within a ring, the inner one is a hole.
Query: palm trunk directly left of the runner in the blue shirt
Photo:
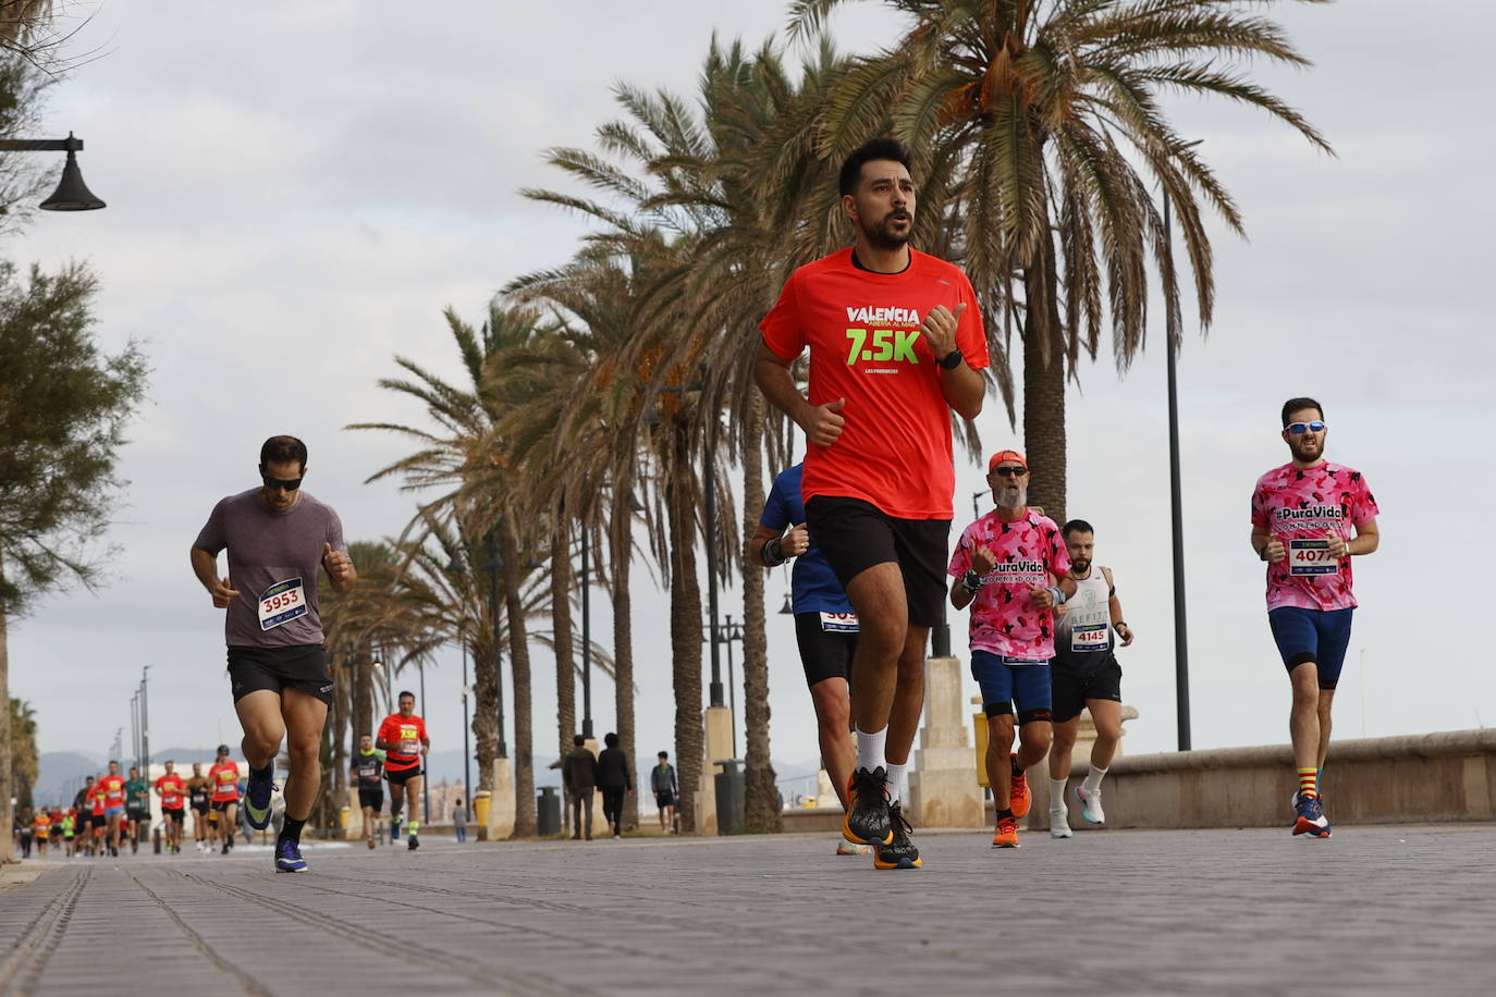
[[[749,387],[744,433],[744,537],[763,510],[763,396]],[[741,546],[739,546],[741,547]],[[742,556],[742,555],[739,555]],[[779,791],[769,758],[769,637],[764,634],[763,570],[744,559],[744,822],[749,831],[779,830]]]

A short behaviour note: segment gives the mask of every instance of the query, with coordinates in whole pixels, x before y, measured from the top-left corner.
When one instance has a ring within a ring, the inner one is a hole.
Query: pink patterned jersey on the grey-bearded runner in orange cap
[[[1034,510],[1014,522],[999,519],[993,510],[962,531],[947,574],[966,574],[977,544],[986,544],[998,564],[971,602],[972,650],[1028,661],[1053,658],[1055,614],[1034,605],[1028,586],[1050,584],[1050,575],[1070,571],[1059,526]]]

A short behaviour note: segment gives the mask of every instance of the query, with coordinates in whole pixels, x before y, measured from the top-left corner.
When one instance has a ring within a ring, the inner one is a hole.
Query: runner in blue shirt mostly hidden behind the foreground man
[[[800,646],[805,682],[815,704],[821,764],[836,786],[836,798],[847,807],[857,750],[851,741],[851,658],[857,650],[857,616],[847,593],[805,529],[805,504],[800,501],[800,469],[781,471],[758,517],[758,529],[748,541],[758,564],[773,568],[794,558],[790,574],[790,602],[794,610],[794,637]],[[892,780],[895,773],[889,773]],[[907,777],[907,776],[905,776]],[[838,855],[866,855],[869,846],[842,840]]]

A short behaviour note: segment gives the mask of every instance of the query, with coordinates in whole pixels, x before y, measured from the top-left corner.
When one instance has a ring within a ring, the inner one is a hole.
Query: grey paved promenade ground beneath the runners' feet
[[[917,871],[829,836],[73,859],[0,892],[0,993],[1496,990],[1489,825],[916,840]]]

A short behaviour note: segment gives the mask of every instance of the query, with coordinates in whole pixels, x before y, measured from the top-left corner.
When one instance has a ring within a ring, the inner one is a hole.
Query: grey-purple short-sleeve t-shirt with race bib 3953
[[[284,513],[260,501],[260,489],[221,499],[193,547],[229,550],[229,580],[239,592],[223,622],[229,647],[296,647],[322,643],[317,572],[323,544],[347,553],[343,522],[305,492]]]

